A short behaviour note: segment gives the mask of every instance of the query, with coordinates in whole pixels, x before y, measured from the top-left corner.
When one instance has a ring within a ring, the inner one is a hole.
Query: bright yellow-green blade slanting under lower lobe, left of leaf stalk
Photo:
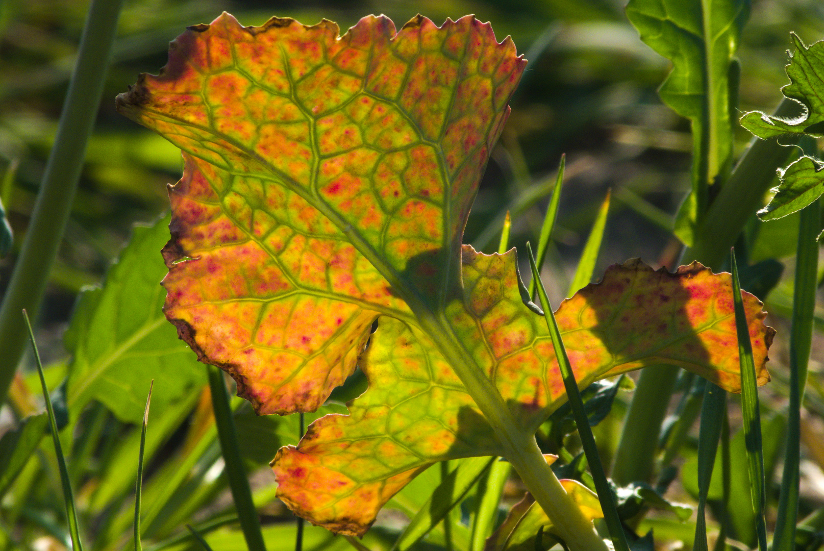
[[[452,472],[443,476],[438,488],[435,488],[429,499],[420,507],[418,513],[392,545],[392,551],[411,549],[438,525],[438,522],[447,518],[452,507],[466,497],[466,493],[478,483],[494,460],[494,457],[472,457],[460,460],[456,469],[452,469]],[[443,465],[446,464],[442,463]]]

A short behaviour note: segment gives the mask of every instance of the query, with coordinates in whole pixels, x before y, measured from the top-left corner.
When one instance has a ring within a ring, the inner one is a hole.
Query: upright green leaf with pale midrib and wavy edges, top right
[[[658,94],[692,124],[692,192],[675,230],[686,245],[707,207],[707,186],[726,180],[732,165],[734,56],[749,11],[748,0],[630,0],[626,7],[641,40],[672,61]]]

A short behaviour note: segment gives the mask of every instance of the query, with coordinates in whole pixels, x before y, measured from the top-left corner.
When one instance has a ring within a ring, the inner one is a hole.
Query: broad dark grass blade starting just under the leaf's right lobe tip
[[[712,480],[715,454],[718,452],[723,419],[727,416],[727,391],[707,381],[701,424],[698,432],[698,518],[695,521],[695,551],[708,551],[705,510],[709,482]]]

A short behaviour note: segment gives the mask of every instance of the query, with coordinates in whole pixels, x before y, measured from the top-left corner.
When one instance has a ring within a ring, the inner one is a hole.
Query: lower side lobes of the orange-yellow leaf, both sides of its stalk
[[[478,362],[534,431],[566,395],[546,324],[522,302],[514,251],[488,255],[465,245],[463,280],[466,309],[456,308],[453,326],[477,343]],[[637,260],[612,266],[556,314],[578,385],[670,363],[739,390],[729,288],[728,273],[700,264],[675,274]],[[761,303],[751,295],[747,302],[763,384],[763,347],[774,331],[761,322]],[[434,462],[503,453],[430,339],[388,316],[378,324],[361,358],[369,390],[349,405],[350,415],[312,423],[297,448],[282,448],[272,463],[278,495],[293,511],[344,534],[362,534],[391,495]]]

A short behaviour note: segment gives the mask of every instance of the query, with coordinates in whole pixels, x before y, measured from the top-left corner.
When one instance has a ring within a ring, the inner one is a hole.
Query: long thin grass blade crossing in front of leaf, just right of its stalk
[[[592,427],[589,426],[589,418],[586,410],[583,408],[581,392],[578,390],[578,383],[575,381],[572,366],[569,364],[569,357],[567,357],[566,348],[564,348],[564,341],[561,340],[558,323],[555,321],[555,314],[552,313],[550,299],[546,296],[544,284],[541,282],[541,274],[538,272],[538,265],[536,264],[535,257],[532,256],[532,248],[529,243],[527,243],[527,257],[529,257],[530,268],[532,268],[532,281],[537,283],[538,297],[541,299],[541,308],[544,310],[546,326],[550,329],[552,346],[555,348],[555,357],[558,360],[561,376],[564,378],[564,389],[567,393],[567,399],[569,399],[569,405],[572,408],[575,424],[578,427],[578,436],[581,438],[583,452],[587,456],[589,469],[592,472],[592,480],[595,482],[598,501],[601,502],[606,527],[610,532],[610,538],[616,551],[630,551],[630,545],[627,543],[624,527],[621,525],[620,517],[618,516],[615,497],[613,497],[612,488],[606,479],[601,457],[598,455],[598,448],[595,444],[595,437],[592,436]]]

